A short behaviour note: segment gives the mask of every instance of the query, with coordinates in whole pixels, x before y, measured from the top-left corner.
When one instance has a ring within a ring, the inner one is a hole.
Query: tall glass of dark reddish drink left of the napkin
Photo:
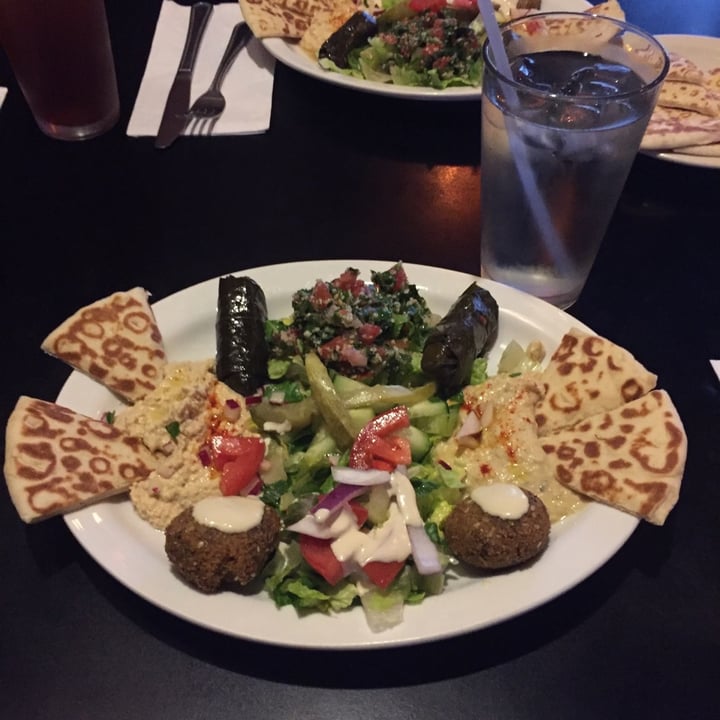
[[[0,45],[40,129],[82,140],[120,114],[104,0],[1,0]]]

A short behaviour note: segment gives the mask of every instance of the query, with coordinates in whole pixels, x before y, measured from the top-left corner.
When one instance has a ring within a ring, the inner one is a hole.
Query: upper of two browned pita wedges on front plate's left
[[[41,347],[130,403],[155,388],[167,363],[148,293],[139,287],[81,308]]]

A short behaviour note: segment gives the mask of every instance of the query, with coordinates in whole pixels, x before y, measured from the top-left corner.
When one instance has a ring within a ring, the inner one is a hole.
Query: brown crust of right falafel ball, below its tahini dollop
[[[450,551],[462,563],[480,570],[503,570],[539,555],[550,539],[550,517],[543,501],[523,489],[528,509],[505,519],[464,498],[443,525]]]

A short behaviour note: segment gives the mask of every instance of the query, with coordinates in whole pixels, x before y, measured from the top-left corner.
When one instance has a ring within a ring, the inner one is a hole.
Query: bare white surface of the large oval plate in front
[[[333,260],[241,270],[263,287],[270,317],[291,309],[293,291],[311,287],[318,278],[332,279],[347,267],[369,280],[371,270],[387,261]],[[430,308],[444,314],[477,278],[471,275],[405,264],[410,282]],[[570,315],[498,283],[480,280],[500,308],[500,336],[490,353],[491,371],[511,339],[525,345],[541,340],[554,349],[571,327],[584,326]],[[173,360],[211,357],[215,352],[217,278],[194,285],[154,305],[168,356]],[[586,330],[588,328],[585,328]],[[74,372],[58,403],[100,417],[117,401],[101,386]],[[104,502],[68,514],[71,532],[109,573],[141,597],[174,615],[227,635],[264,643],[308,648],[373,648],[419,643],[493,625],[557,597],[611,558],[637,526],[627,514],[590,504],[576,516],[556,524],[546,552],[532,566],[485,579],[460,578],[446,591],[407,607],[404,622],[374,634],[361,608],[336,616],[299,618],[290,607],[278,609],[263,592],[203,595],[183,584],[170,570],[164,536],[133,511],[129,500]]]

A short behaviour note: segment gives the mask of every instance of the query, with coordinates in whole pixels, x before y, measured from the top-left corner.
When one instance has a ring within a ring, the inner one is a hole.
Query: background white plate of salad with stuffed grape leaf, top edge
[[[494,5],[499,22],[518,13],[582,12],[590,6],[585,0],[531,0],[531,9],[522,0]],[[473,0],[377,0],[360,6],[343,0],[342,7],[318,10],[306,32],[294,37],[267,35],[248,23],[277,60],[316,79],[418,100],[481,97],[485,29]]]

